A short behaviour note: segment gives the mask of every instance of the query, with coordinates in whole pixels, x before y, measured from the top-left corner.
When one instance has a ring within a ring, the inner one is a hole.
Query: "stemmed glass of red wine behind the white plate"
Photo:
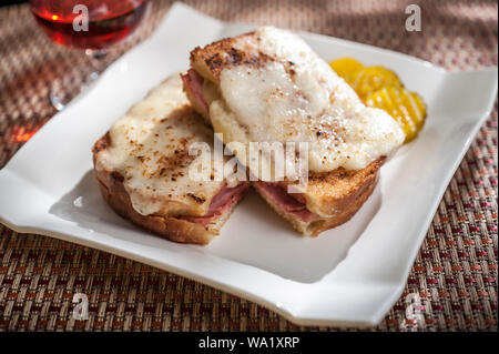
[[[92,65],[81,92],[103,70],[109,48],[128,38],[149,11],[147,0],[30,0],[38,24],[55,43],[84,50]],[[74,97],[57,80],[50,90],[52,105],[61,111]]]

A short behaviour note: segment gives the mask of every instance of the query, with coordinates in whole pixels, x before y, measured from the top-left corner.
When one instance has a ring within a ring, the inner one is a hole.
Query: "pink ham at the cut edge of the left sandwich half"
[[[228,212],[243,198],[247,188],[247,183],[242,183],[234,188],[227,188],[224,185],[222,190],[213,198],[206,215],[182,216],[181,219],[206,226],[224,213]]]

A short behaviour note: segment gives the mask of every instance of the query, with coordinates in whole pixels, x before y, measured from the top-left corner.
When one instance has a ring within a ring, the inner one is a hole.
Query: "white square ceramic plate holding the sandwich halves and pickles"
[[[368,326],[399,297],[441,195],[493,104],[497,68],[449,73],[369,45],[303,33],[325,60],[354,57],[395,70],[429,108],[419,138],[381,169],[348,223],[301,237],[248,195],[208,246],[150,235],[116,216],[92,174],[91,146],[189,52],[252,29],[175,4],[156,32],[48,122],[0,171],[0,221],[101,249],[246,297],[305,325]]]

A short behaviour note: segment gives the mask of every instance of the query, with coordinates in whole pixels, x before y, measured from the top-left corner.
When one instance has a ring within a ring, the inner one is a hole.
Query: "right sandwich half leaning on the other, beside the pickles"
[[[308,144],[308,183],[297,185],[299,193],[289,193],[287,186],[297,184],[289,179],[253,182],[265,201],[305,235],[348,221],[375,189],[386,158],[405,139],[391,117],[366,107],[288,31],[264,27],[196,48],[183,81],[194,109],[223,134],[224,143]],[[235,154],[246,161],[246,151]],[[291,159],[298,154],[296,149]]]

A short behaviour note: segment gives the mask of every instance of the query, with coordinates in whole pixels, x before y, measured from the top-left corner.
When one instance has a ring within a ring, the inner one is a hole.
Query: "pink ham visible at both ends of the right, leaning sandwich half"
[[[197,105],[201,107],[206,117],[208,117],[208,105],[203,98],[202,91],[204,78],[201,77],[195,70],[190,69],[186,74],[182,75],[182,80],[185,88],[187,88],[191,92],[191,95],[196,100]],[[308,211],[302,195],[292,195],[287,193],[287,186],[285,184],[262,181],[257,181],[255,183],[259,186],[262,193],[264,193],[265,196],[279,210],[284,210],[286,213],[292,214],[304,222],[309,222],[318,218],[317,214]]]

